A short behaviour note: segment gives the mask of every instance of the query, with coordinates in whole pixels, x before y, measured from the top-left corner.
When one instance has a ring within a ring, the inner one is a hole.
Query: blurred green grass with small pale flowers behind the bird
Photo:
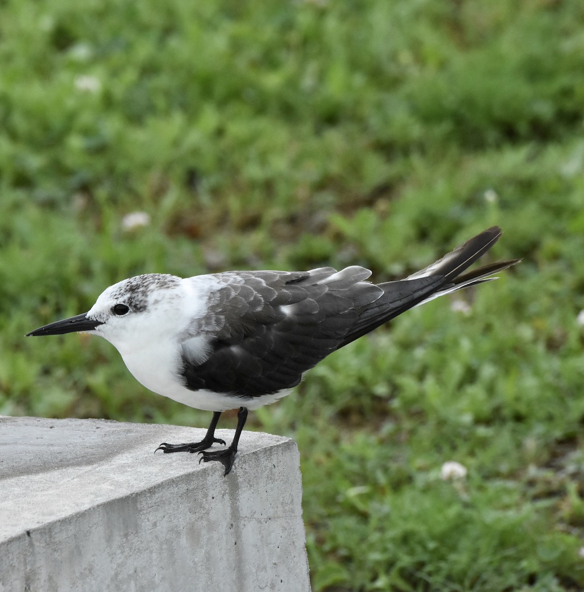
[[[206,426],[23,336],[131,275],[383,281],[500,224],[521,265],[248,426],[299,443],[315,591],[584,589],[583,114],[580,0],[4,0],[0,413]]]

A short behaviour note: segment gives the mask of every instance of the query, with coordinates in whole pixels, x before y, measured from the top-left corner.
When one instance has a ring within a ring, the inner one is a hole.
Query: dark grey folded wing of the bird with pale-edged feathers
[[[196,327],[209,338],[204,361],[183,348],[187,387],[239,397],[294,387],[356,332],[368,332],[444,283],[424,277],[378,287],[364,281],[369,275],[358,266],[215,274],[221,287]]]

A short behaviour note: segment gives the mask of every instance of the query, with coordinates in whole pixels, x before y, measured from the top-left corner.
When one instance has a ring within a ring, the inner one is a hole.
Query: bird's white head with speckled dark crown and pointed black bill
[[[50,323],[27,336],[88,332],[107,339],[120,352],[176,333],[181,278],[146,274],[106,288],[87,313]]]

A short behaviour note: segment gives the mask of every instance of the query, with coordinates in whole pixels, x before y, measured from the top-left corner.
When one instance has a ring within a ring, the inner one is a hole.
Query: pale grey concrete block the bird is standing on
[[[244,432],[225,478],[153,454],[204,433],[0,417],[0,592],[310,590],[296,444]]]

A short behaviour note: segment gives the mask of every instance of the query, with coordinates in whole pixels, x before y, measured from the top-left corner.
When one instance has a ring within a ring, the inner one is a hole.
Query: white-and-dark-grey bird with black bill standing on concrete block
[[[410,308],[497,279],[520,259],[466,271],[501,236],[482,231],[414,274],[374,284],[358,265],[310,271],[229,271],[180,278],[144,274],[105,289],[87,313],[27,336],[87,332],[104,337],[144,387],[212,411],[200,442],[156,451],[197,452],[231,472],[249,410],[274,403],[330,353]],[[238,409],[232,442],[215,437],[223,411]],[[213,449],[214,444],[225,448]],[[155,452],[156,452],[155,451]]]

